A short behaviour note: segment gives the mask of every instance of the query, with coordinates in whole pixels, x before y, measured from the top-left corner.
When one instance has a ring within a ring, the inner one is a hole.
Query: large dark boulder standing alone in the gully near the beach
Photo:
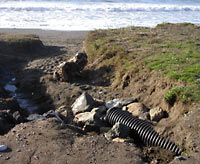
[[[53,73],[53,78],[59,81],[70,82],[80,77],[81,71],[88,60],[85,52],[78,52],[70,60],[61,63]]]

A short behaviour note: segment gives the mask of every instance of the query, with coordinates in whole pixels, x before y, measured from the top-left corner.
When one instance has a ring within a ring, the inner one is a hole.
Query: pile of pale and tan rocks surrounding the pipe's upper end
[[[105,133],[105,137],[109,140],[127,137],[130,131],[128,127],[118,123],[111,129],[108,123],[105,122],[104,117],[107,110],[113,107],[126,110],[133,116],[149,122],[159,121],[164,116],[159,114],[158,110],[148,109],[144,104],[137,102],[136,99],[113,99],[108,102],[102,102],[84,92],[71,106],[71,111],[74,115],[73,122],[82,127],[85,132],[96,131],[97,133]],[[64,112],[62,111],[62,113]],[[65,118],[62,114],[60,116]]]

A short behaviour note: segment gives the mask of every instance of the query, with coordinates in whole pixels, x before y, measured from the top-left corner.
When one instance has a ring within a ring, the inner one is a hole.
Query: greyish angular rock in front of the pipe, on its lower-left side
[[[125,138],[129,135],[130,128],[124,124],[117,122],[112,129],[110,129],[107,133],[104,134],[106,139],[112,140],[113,138]]]

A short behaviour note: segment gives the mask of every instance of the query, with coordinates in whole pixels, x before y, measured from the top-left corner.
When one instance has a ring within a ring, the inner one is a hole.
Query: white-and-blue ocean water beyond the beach
[[[189,22],[200,0],[0,0],[0,28],[64,31]]]

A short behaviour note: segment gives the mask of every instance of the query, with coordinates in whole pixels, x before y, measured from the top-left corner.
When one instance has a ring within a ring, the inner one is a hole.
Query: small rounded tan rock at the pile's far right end
[[[153,108],[149,111],[151,121],[160,121],[164,117],[164,111],[161,107]]]

